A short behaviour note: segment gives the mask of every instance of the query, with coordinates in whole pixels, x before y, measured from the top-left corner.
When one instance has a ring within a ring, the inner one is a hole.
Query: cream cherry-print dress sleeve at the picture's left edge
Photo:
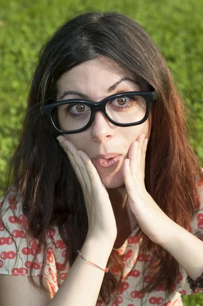
[[[18,222],[27,226],[27,219],[22,213],[21,204],[15,192],[9,192],[4,203],[1,202],[0,274],[31,275],[31,263],[37,251],[38,241],[26,237],[24,228]],[[41,275],[42,261],[43,252],[40,248],[33,266],[33,276]]]

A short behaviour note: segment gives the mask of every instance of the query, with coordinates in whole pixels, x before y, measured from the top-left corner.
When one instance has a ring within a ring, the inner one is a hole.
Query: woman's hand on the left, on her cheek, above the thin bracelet
[[[81,184],[88,217],[87,237],[115,242],[117,227],[111,201],[106,187],[90,157],[78,150],[71,141],[57,137]]]

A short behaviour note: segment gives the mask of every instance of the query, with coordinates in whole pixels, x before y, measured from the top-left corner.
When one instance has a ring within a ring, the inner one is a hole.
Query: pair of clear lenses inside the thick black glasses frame
[[[115,97],[106,104],[106,113],[117,123],[134,123],[144,118],[146,101],[139,95]],[[91,109],[85,103],[70,102],[52,111],[56,127],[61,131],[82,129],[90,120]]]

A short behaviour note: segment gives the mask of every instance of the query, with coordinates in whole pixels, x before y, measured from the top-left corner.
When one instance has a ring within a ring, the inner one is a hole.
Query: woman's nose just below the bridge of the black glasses
[[[110,140],[115,132],[116,125],[112,124],[102,112],[96,112],[91,125],[91,138],[96,142]]]

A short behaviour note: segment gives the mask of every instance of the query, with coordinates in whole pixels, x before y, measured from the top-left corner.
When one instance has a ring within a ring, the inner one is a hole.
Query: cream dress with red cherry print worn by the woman
[[[191,228],[188,230],[203,241],[203,182],[198,182],[198,186],[200,208],[192,219]],[[36,254],[38,240],[26,238],[26,234],[14,217],[12,210],[10,208],[7,210],[10,206],[15,210],[15,214],[19,220],[25,226],[27,225],[26,217],[22,213],[20,198],[18,196],[15,197],[14,192],[11,191],[3,205],[3,212],[5,213],[0,223],[0,274],[28,276],[31,275],[30,267],[33,256]],[[133,228],[135,217],[129,207],[128,213]],[[11,235],[5,230],[5,225]],[[125,240],[123,245],[115,249],[122,259],[124,276],[122,278],[121,289],[116,295],[116,299],[111,300],[108,306],[183,306],[181,295],[193,294],[193,292],[186,281],[187,274],[181,266],[179,278],[174,284],[173,291],[167,299],[165,299],[165,285],[158,286],[156,290],[151,293],[140,293],[138,282],[143,279],[144,283],[147,284],[151,280],[150,275],[145,275],[143,273],[143,263],[149,262],[151,260],[151,255],[148,253],[144,256],[139,253],[141,239],[136,231],[132,231],[132,234]],[[33,267],[34,273],[32,275],[42,275],[47,278],[53,297],[63,283],[70,267],[66,264],[63,268],[66,256],[66,246],[60,237],[58,228],[50,228],[46,231],[45,235],[47,242],[45,265],[42,271],[43,251],[40,248],[37,252],[37,258]],[[14,241],[17,245],[17,252]],[[14,265],[16,258],[17,261]],[[113,265],[108,266],[108,268],[118,279],[120,275],[119,266]],[[198,289],[197,292],[201,292],[201,290]],[[104,305],[105,304],[99,302],[98,299],[95,306]]]

